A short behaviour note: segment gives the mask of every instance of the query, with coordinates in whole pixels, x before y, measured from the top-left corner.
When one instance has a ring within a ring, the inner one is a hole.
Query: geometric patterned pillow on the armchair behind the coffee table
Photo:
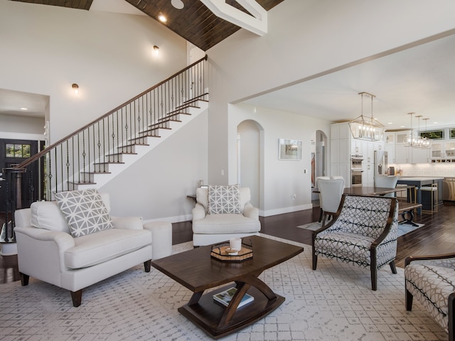
[[[208,214],[240,215],[240,186],[208,186]]]

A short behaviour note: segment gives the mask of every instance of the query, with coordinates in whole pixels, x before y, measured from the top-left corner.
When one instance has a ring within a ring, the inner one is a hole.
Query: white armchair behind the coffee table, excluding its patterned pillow
[[[240,212],[238,214],[210,214],[209,189],[196,190],[196,205],[192,212],[194,247],[225,242],[232,237],[243,238],[259,234],[261,230],[259,210],[250,203],[250,188],[239,188],[239,190]]]

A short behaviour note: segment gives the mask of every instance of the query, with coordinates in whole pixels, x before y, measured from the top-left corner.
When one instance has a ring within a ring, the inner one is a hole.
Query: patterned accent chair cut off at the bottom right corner
[[[406,310],[415,297],[454,341],[455,253],[405,260]]]

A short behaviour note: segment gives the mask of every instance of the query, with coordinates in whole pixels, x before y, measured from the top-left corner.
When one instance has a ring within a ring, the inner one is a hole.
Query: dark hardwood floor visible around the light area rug
[[[297,226],[316,222],[319,219],[319,207],[259,219],[262,233],[311,245],[311,231]],[[405,258],[410,255],[455,251],[454,204],[444,203],[439,206],[438,212],[416,215],[414,221],[425,226],[398,238],[397,266],[404,267]],[[191,222],[172,224],[172,229],[173,244],[191,241]],[[19,280],[17,256],[0,256],[0,269],[0,283]]]

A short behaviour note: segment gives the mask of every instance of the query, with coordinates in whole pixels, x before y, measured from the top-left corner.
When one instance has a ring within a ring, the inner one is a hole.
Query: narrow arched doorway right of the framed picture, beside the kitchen
[[[319,200],[319,194],[312,193],[316,187],[316,178],[327,176],[327,135],[316,130],[311,136],[311,200]]]

